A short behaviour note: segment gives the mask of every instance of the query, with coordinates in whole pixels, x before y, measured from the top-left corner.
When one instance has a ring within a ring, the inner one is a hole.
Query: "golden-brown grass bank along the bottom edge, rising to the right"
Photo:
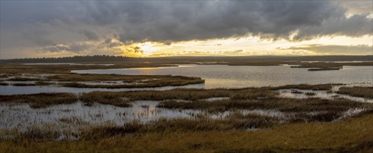
[[[0,141],[0,152],[372,152],[373,114],[259,131],[165,131],[77,141]]]

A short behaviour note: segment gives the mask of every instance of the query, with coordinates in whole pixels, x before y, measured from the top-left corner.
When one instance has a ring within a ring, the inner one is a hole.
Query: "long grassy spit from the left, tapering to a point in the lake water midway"
[[[15,77],[6,81],[37,81],[35,83],[13,83],[13,86],[64,86],[73,88],[152,88],[161,86],[184,86],[204,83],[200,77],[171,75],[119,75],[119,74],[55,74],[45,78]],[[52,81],[52,82],[47,82]],[[85,84],[80,82],[122,81],[127,84]]]

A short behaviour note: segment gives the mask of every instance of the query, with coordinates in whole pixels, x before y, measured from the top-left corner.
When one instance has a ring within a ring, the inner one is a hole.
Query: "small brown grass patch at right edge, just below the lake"
[[[337,93],[356,97],[373,98],[373,87],[341,87]]]

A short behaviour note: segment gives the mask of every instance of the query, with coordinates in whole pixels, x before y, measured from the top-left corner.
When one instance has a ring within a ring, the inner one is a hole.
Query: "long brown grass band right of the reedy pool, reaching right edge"
[[[287,99],[273,98],[260,100],[232,99],[216,102],[193,101],[193,102],[175,102],[168,100],[161,102],[159,107],[180,108],[180,109],[202,109],[207,111],[228,111],[232,109],[274,109],[284,112],[310,112],[310,111],[332,111],[341,113],[349,108],[367,108],[371,109],[372,104],[352,102],[347,99]]]

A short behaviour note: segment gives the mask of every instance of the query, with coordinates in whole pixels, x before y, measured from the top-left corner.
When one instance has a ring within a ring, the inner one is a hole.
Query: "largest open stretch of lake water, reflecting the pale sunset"
[[[247,88],[289,84],[373,83],[373,66],[344,66],[338,71],[309,72],[282,66],[179,65],[109,70],[74,70],[79,74],[182,75],[205,79],[204,88]]]

